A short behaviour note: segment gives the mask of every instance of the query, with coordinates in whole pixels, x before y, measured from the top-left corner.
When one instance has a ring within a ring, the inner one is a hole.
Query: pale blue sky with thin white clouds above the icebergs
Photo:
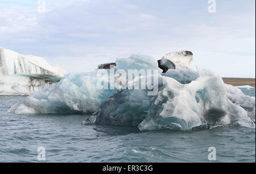
[[[68,73],[133,53],[158,60],[188,50],[193,68],[255,78],[255,1],[216,0],[216,13],[209,6],[208,0],[0,0],[0,47],[44,57]]]

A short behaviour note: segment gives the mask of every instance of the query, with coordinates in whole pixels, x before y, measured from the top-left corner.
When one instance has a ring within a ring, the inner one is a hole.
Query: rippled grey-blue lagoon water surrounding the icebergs
[[[242,88],[255,96],[255,88]],[[89,115],[7,113],[24,96],[0,96],[0,162],[255,162],[255,129],[140,132],[134,127],[81,125]]]

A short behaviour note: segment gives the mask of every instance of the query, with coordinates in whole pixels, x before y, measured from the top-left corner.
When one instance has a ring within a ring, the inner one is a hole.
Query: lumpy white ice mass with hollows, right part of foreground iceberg
[[[251,115],[229,100],[220,77],[205,69],[199,69],[199,76],[184,85],[165,78],[165,87],[152,98],[148,115],[138,128],[142,131],[190,130],[234,124],[255,127]],[[255,102],[255,97],[250,99]]]

